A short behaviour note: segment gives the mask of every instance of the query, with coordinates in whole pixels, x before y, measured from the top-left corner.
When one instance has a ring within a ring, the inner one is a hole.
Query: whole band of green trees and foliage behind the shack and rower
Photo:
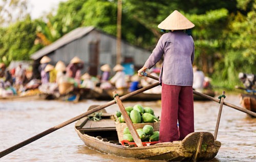
[[[11,19],[6,5],[22,14]],[[241,84],[239,72],[256,72],[255,0],[123,0],[122,39],[152,51],[162,35],[157,25],[174,10],[195,24],[195,64],[215,87],[233,89]],[[0,62],[8,64],[29,60],[78,27],[94,26],[116,36],[117,0],[69,0],[37,19],[31,19],[26,0],[3,1],[0,20]]]

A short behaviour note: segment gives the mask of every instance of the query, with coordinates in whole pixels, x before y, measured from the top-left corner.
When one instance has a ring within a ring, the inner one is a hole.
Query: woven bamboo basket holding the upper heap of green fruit
[[[159,131],[160,122],[154,123],[133,123],[135,129],[142,129],[145,125],[151,125],[154,131]],[[115,122],[118,140],[121,143],[123,140],[123,129],[127,127],[126,123]]]

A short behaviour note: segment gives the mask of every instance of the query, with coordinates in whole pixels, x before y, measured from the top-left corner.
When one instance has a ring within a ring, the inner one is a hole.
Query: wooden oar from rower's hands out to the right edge
[[[159,80],[157,77],[153,77],[153,76],[151,76],[151,75],[149,75],[149,74],[146,74],[146,73],[144,73],[144,72],[141,73],[141,75],[146,76],[146,77],[149,77],[149,78],[152,78],[152,79]],[[210,96],[208,96],[208,95],[201,94],[200,92],[198,92],[198,91],[196,91],[196,90],[193,90],[193,94],[198,95],[198,96],[202,96],[202,97],[204,97],[204,98],[207,98],[207,99],[209,99],[209,100],[212,100],[212,101],[215,101],[215,102],[218,102],[218,103],[219,103],[219,101],[220,101],[220,100],[218,100],[218,99],[216,99],[216,98],[213,98],[213,97],[210,97]],[[248,114],[252,115],[253,117],[256,117],[256,113],[255,113],[255,112],[250,111],[250,110],[247,110],[246,108],[242,108],[242,107],[239,107],[239,106],[236,106],[236,105],[227,103],[227,102],[223,102],[223,105],[226,105],[226,106],[231,107],[231,108],[233,108],[233,109],[236,109],[236,110],[239,110],[239,111],[248,113]]]

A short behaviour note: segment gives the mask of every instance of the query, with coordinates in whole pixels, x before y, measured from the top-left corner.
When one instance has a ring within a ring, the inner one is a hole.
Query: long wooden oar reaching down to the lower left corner
[[[125,99],[127,99],[127,98],[129,98],[131,96],[137,95],[140,92],[143,92],[145,90],[154,88],[154,87],[156,87],[158,85],[159,85],[159,83],[154,83],[154,84],[151,84],[149,86],[143,87],[141,89],[135,90],[135,91],[133,91],[133,92],[127,94],[127,95],[124,95],[124,96],[120,97],[120,100],[123,101],[123,100],[125,100]],[[66,122],[63,122],[63,123],[61,123],[59,125],[56,125],[55,127],[52,127],[52,128],[47,129],[47,130],[45,130],[45,131],[43,131],[43,132],[41,132],[41,133],[39,133],[39,134],[37,134],[35,136],[32,136],[31,138],[28,138],[27,140],[25,140],[23,142],[20,142],[20,143],[14,145],[14,146],[12,146],[12,147],[2,151],[2,152],[0,152],[0,158],[5,156],[5,155],[7,155],[7,154],[9,154],[9,153],[11,153],[11,152],[13,152],[13,151],[15,151],[15,150],[17,150],[17,149],[19,149],[19,148],[22,148],[22,147],[24,147],[24,146],[26,146],[26,145],[28,145],[28,144],[38,140],[39,138],[41,138],[41,137],[43,137],[43,136],[45,136],[47,134],[50,134],[50,133],[54,132],[55,130],[58,130],[58,129],[60,129],[60,128],[66,126],[66,125],[69,125],[69,124],[71,124],[71,123],[73,123],[73,122],[75,122],[75,121],[77,121],[77,120],[79,120],[79,119],[81,119],[83,117],[86,117],[87,115],[90,115],[90,114],[92,114],[92,113],[94,113],[96,111],[99,111],[99,110],[101,110],[101,109],[103,109],[105,107],[111,106],[113,104],[115,104],[115,100],[112,100],[112,101],[110,101],[108,103],[105,103],[103,105],[97,106],[94,109],[91,109],[91,110],[89,110],[87,112],[84,112],[84,113],[82,113],[82,114],[80,114],[80,115],[78,115],[78,116],[76,116],[76,117],[74,117],[74,118],[72,118],[72,119],[70,119],[70,120],[68,120]]]

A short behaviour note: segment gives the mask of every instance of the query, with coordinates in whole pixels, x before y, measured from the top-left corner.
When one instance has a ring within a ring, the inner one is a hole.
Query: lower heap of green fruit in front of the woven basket
[[[159,131],[154,131],[151,125],[145,125],[143,129],[136,129],[142,142],[153,142],[159,140]],[[134,142],[128,127],[123,129],[123,140]]]

